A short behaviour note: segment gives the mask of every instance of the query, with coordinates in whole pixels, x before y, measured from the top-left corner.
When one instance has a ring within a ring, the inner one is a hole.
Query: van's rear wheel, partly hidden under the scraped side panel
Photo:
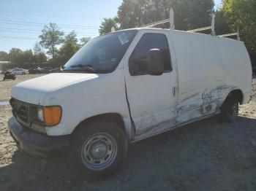
[[[224,122],[235,122],[238,117],[239,102],[237,98],[229,97],[222,104],[220,117]]]

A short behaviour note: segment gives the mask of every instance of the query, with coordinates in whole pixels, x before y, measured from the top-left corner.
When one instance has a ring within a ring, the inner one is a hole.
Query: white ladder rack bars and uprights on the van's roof
[[[149,23],[147,25],[143,25],[141,27],[154,27],[154,26],[159,26],[161,24],[164,23],[170,23],[170,30],[174,30],[175,26],[174,26],[174,12],[173,12],[173,8],[170,7],[170,18],[169,19],[165,19],[165,20],[159,20],[157,22],[154,23]],[[188,32],[193,32],[193,33],[200,33],[201,31],[207,31],[207,30],[211,30],[211,35],[212,36],[216,36],[215,34],[215,15],[211,14],[211,26],[206,26],[203,28],[195,28],[192,30],[189,30]],[[240,41],[240,32],[239,32],[239,28],[237,28],[237,32],[236,33],[230,33],[230,34],[222,34],[219,35],[218,37],[230,37],[230,36],[237,36],[237,39]]]

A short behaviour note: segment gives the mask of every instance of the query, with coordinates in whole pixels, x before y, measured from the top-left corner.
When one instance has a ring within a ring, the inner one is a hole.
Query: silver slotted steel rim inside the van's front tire
[[[87,139],[81,149],[83,164],[93,171],[108,168],[117,155],[117,144],[108,133],[97,133]]]

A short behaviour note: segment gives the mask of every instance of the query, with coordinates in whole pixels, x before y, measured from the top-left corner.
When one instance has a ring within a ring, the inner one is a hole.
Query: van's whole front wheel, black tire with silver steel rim
[[[72,163],[86,176],[113,174],[127,158],[128,141],[115,122],[88,122],[72,139]]]

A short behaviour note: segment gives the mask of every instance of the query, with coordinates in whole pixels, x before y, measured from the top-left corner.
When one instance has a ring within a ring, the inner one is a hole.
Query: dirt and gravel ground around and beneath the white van
[[[0,101],[37,76],[0,81]],[[65,156],[46,163],[20,153],[7,130],[11,108],[0,106],[0,190],[256,190],[256,78],[252,88],[237,122],[211,117],[131,144],[124,166],[102,180],[76,174]]]

